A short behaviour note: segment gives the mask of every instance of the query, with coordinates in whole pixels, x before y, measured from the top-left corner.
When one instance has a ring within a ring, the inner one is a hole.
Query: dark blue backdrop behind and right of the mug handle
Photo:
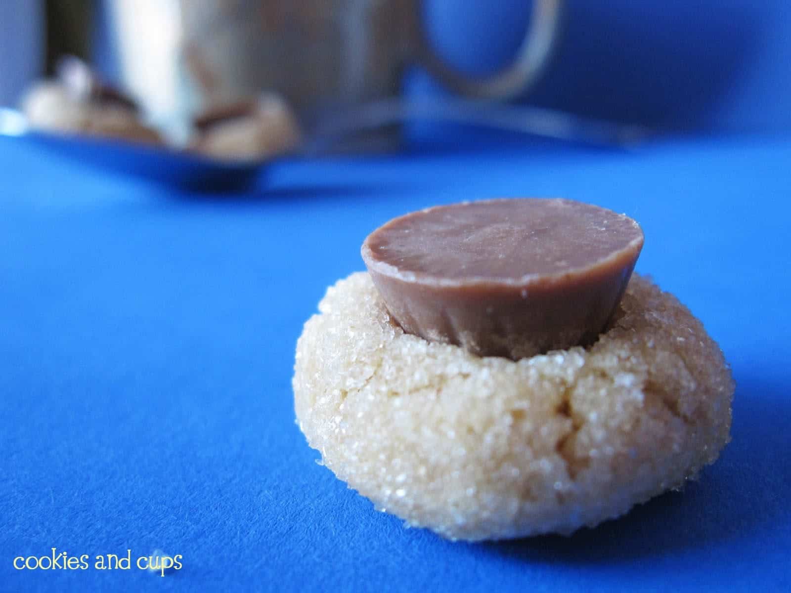
[[[435,47],[472,74],[512,59],[532,2],[424,0]],[[791,3],[567,0],[523,102],[665,130],[791,130]],[[418,70],[411,93],[440,93]]]

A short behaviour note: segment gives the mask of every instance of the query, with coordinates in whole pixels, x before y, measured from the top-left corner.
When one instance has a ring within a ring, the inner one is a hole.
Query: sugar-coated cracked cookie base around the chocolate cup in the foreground
[[[376,508],[447,538],[595,525],[683,485],[729,440],[719,347],[638,274],[594,345],[520,361],[404,334],[365,273],[319,310],[293,377],[308,443]]]

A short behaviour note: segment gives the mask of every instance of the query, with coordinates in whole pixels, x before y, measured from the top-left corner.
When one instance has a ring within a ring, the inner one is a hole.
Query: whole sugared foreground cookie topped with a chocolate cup
[[[733,382],[642,231],[567,200],[423,210],[373,232],[297,342],[324,464],[447,538],[570,533],[683,485],[729,440]]]

